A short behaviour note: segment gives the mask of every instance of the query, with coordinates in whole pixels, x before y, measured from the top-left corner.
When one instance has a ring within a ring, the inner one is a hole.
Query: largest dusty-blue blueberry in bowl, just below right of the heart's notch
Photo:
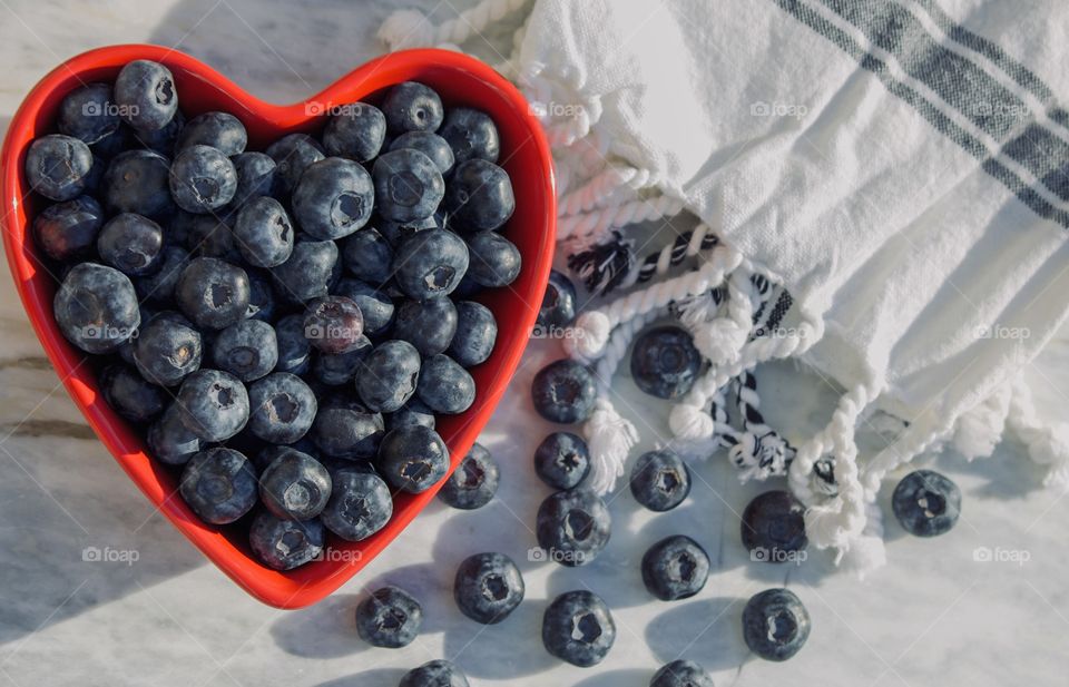
[[[359,163],[328,157],[308,165],[293,190],[293,215],[314,238],[342,238],[367,224],[375,203],[371,175]]]

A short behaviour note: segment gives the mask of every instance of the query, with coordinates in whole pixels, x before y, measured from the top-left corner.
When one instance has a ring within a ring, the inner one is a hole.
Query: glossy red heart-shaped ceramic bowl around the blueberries
[[[356,100],[375,101],[383,90],[408,80],[422,81],[441,95],[445,107],[471,106],[488,112],[501,134],[500,164],[512,177],[516,214],[504,230],[519,247],[523,268],[511,288],[487,292],[480,300],[499,324],[489,361],[472,370],[478,394],[461,415],[441,418],[439,431],[455,468],[489,420],[519,364],[549,276],[553,252],[556,196],[552,160],[538,121],[520,92],[487,65],[444,50],[409,50],[367,62],[323,92],[294,105],[257,100],[198,60],[159,46],[115,46],[80,55],[38,84],[11,120],[0,156],[3,179],[3,242],[22,303],[57,373],[100,441],[146,497],[216,566],[257,599],[279,608],[314,603],[344,583],[379,554],[434,498],[438,489],[394,499],[393,519],[374,537],[350,543],[332,540],[330,556],[297,570],[277,572],[253,558],[244,533],[207,526],[177,494],[177,480],[151,460],[141,438],[104,402],[86,356],[62,337],[52,318],[53,277],[37,257],[29,227],[42,207],[30,193],[22,167],[35,137],[53,131],[65,95],[91,81],[112,81],[134,59],[156,60],[175,76],[186,115],[209,110],[234,114],[248,129],[249,149],[292,131],[317,133],[324,112]],[[143,430],[144,428],[138,428]]]

